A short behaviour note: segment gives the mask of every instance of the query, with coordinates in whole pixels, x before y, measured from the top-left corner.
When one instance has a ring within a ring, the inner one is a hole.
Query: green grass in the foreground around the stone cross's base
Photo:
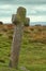
[[[9,68],[12,39],[0,36],[0,71],[21,71],[25,67],[30,71],[46,71],[46,44],[31,42],[25,33],[19,55],[18,69]]]

